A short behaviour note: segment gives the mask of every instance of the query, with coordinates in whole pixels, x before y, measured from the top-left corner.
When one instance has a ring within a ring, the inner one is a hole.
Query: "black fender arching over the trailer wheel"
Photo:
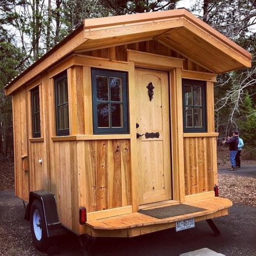
[[[32,191],[29,196],[29,204],[27,205],[25,220],[30,221],[30,210],[33,200],[38,199],[42,205],[47,237],[61,235],[65,233],[65,228],[59,220],[55,195],[45,190]]]

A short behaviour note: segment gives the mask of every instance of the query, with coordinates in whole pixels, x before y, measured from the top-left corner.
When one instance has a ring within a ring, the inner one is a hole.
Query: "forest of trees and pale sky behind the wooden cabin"
[[[252,68],[218,75],[215,127],[218,142],[239,130],[247,159],[256,159],[256,0],[1,0],[0,160],[13,158],[12,103],[4,87],[14,77],[84,19],[179,7],[252,54]]]

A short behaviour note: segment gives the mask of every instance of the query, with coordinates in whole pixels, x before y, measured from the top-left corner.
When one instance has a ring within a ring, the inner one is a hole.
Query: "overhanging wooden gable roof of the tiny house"
[[[12,93],[18,84],[29,81],[70,53],[146,40],[156,40],[217,74],[251,67],[249,52],[188,10],[174,9],[84,20],[83,26],[11,81],[5,92]],[[11,86],[13,88],[8,90]]]

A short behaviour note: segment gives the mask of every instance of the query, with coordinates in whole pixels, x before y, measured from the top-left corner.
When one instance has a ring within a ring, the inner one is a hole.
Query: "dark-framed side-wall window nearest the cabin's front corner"
[[[55,77],[55,111],[57,136],[69,135],[67,73]]]

